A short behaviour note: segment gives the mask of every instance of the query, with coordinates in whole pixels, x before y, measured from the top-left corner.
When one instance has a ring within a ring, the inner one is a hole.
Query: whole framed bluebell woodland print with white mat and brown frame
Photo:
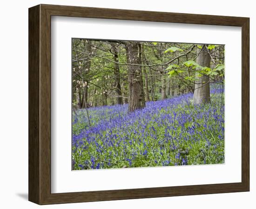
[[[29,201],[249,191],[249,18],[29,8]]]

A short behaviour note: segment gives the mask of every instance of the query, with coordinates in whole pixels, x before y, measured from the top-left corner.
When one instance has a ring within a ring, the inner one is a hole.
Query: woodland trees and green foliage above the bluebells
[[[72,39],[73,107],[129,104],[129,111],[182,93],[210,102],[224,83],[224,46]]]

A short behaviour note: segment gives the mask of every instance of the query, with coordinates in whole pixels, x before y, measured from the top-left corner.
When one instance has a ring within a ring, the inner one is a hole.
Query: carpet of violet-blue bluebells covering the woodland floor
[[[128,112],[128,104],[73,113],[73,170],[224,163],[224,104],[183,94]]]

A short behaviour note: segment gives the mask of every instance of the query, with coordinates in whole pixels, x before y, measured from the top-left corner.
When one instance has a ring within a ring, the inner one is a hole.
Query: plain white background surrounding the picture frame
[[[162,197],[138,200],[48,205],[44,208],[255,208],[256,181],[255,125],[253,96],[256,85],[256,6],[252,0],[22,0],[1,1],[0,5],[0,206],[34,209],[27,201],[28,176],[28,7],[62,4],[177,13],[202,13],[250,17],[250,192],[200,196]],[[254,36],[254,37],[253,37]],[[240,50],[240,49],[238,49]],[[236,60],[234,60],[236,61]],[[235,85],[235,84],[234,84]],[[240,99],[240,98],[237,98]],[[236,114],[234,113],[234,119]],[[189,174],[188,174],[189,175]]]

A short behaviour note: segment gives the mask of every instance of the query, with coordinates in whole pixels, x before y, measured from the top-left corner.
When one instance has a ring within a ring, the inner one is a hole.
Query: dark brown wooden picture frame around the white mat
[[[242,182],[51,193],[51,16],[242,27]],[[29,8],[28,63],[29,201],[55,204],[249,191],[249,18],[38,5]]]

